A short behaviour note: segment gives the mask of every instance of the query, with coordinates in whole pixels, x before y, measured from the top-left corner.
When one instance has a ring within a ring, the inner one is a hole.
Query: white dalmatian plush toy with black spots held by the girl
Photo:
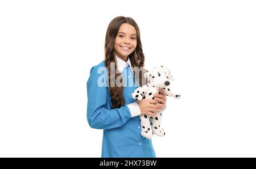
[[[174,78],[170,74],[170,70],[168,70],[166,67],[154,67],[152,70],[147,71],[147,73],[144,74],[144,78],[147,79],[147,84],[138,87],[132,93],[132,96],[135,100],[154,99],[154,94],[158,93],[159,89],[164,90],[167,96],[172,96],[175,99],[180,99],[180,95],[172,91],[172,88],[170,86],[170,80],[174,81]],[[153,132],[157,136],[164,136],[166,134],[164,133],[164,130],[160,128],[162,112],[163,110],[159,111],[158,115],[156,116],[140,116],[141,135],[143,137],[150,139],[153,136]]]

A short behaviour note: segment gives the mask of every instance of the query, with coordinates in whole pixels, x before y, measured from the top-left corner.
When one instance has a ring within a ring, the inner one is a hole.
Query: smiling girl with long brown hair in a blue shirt
[[[88,123],[104,129],[102,157],[155,157],[151,140],[141,136],[139,115],[155,116],[166,107],[166,96],[160,90],[154,100],[135,102],[131,97],[145,84],[143,66],[137,23],[129,17],[114,18],[106,31],[104,61],[92,67],[86,83]],[[142,70],[139,78],[133,67]]]

